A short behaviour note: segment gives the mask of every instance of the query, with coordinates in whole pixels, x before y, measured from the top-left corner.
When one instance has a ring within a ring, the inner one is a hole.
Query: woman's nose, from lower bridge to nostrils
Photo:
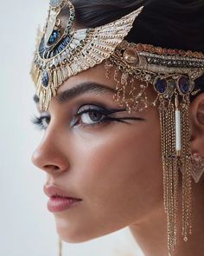
[[[55,143],[54,141],[58,141]],[[61,148],[63,144],[54,136],[48,135],[41,141],[41,144],[32,154],[31,161],[36,167],[47,172],[48,174],[59,174],[69,168],[66,152]]]

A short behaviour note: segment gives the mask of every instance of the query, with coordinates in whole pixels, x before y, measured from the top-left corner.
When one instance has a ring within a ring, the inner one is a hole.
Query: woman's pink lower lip
[[[48,200],[48,210],[52,213],[61,212],[69,209],[80,203],[81,200],[63,198],[63,197],[51,197]]]

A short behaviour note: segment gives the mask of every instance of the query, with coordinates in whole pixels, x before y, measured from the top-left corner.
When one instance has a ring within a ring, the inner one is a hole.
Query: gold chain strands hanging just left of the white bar
[[[169,254],[175,249],[176,220],[178,208],[178,156],[175,150],[175,106],[160,98],[159,115],[162,133],[163,198],[167,213]]]

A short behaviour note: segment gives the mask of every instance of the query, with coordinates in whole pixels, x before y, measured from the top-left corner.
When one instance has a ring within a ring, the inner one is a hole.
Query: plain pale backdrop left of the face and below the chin
[[[0,255],[57,256],[58,235],[45,174],[30,161],[43,132],[29,76],[35,36],[48,13],[48,0],[0,0]],[[141,256],[128,228],[80,244],[63,243],[63,256]]]

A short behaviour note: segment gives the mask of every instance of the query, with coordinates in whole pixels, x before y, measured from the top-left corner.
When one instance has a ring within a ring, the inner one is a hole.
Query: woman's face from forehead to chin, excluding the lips
[[[72,91],[61,101],[53,98],[41,113],[48,117],[42,118],[45,133],[32,161],[47,172],[47,184],[82,199],[77,207],[54,213],[67,242],[137,225],[163,205],[157,108],[111,114],[124,108],[113,100],[116,82],[110,76],[100,64],[69,78],[58,95]]]

